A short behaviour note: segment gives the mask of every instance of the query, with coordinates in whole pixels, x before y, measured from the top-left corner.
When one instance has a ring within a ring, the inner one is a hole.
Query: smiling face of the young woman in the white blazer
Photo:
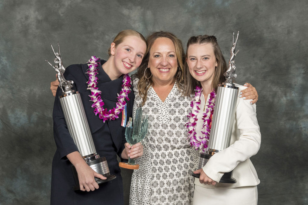
[[[201,84],[212,84],[217,59],[211,43],[189,45],[186,62],[193,78]]]

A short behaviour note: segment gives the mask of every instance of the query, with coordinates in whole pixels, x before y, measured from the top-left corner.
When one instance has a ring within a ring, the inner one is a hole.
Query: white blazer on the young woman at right
[[[247,87],[236,85],[239,92]],[[206,102],[209,100],[206,100]],[[215,186],[205,185],[195,178],[195,184],[206,188],[234,188],[255,186],[260,183],[257,172],[249,157],[257,154],[261,144],[261,133],[257,121],[256,104],[251,105],[250,100],[237,99],[235,119],[233,123],[230,146],[214,154],[203,167],[203,171],[211,179],[219,182],[225,172],[233,170],[233,177],[237,183],[216,183]],[[200,111],[197,118],[197,137],[201,135],[202,111],[205,105],[204,95],[201,95]]]

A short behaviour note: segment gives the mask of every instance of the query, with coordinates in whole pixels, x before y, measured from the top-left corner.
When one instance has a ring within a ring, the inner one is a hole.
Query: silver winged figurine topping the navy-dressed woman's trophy
[[[48,60],[45,60],[53,69],[55,69],[55,71],[57,72],[57,78],[58,78],[58,81],[59,81],[59,87],[61,88],[62,92],[65,93],[65,92],[69,92],[72,90],[73,88],[73,81],[67,81],[64,76],[63,76],[63,73],[65,71],[65,67],[63,65],[63,62],[62,62],[62,58],[61,58],[61,55],[60,55],[60,46],[59,46],[59,42],[58,42],[58,50],[59,52],[55,52],[54,48],[52,47],[51,43],[50,43],[50,46],[51,46],[51,49],[52,49],[52,52],[54,53],[55,55],[55,59],[54,59],[54,62],[56,63],[55,66],[51,65],[50,62],[48,62]]]

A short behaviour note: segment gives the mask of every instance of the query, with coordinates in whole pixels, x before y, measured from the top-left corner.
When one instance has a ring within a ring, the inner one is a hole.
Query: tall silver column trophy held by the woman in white
[[[216,102],[213,113],[212,127],[209,136],[209,144],[205,153],[199,154],[198,168],[201,169],[205,166],[208,160],[215,153],[228,148],[230,146],[233,122],[235,117],[235,108],[237,104],[238,87],[233,83],[233,78],[237,77],[235,74],[235,56],[239,50],[235,53],[235,48],[238,39],[234,41],[233,32],[233,46],[230,50],[231,56],[229,60],[229,67],[224,73],[226,81],[218,85]],[[232,177],[233,170],[226,172],[220,179],[220,183],[236,183],[236,179]],[[192,176],[200,178],[200,174],[192,172]]]

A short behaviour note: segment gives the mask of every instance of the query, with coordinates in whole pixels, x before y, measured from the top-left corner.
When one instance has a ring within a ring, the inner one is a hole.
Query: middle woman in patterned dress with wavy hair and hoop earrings
[[[199,151],[190,147],[185,128],[191,97],[183,95],[183,46],[176,36],[163,31],[150,35],[147,46],[132,76],[133,117],[142,105],[143,115],[148,115],[148,133],[142,141],[144,154],[136,159],[140,168],[132,175],[130,204],[188,205],[194,192],[190,173],[196,169]],[[257,94],[252,86],[248,91]]]

